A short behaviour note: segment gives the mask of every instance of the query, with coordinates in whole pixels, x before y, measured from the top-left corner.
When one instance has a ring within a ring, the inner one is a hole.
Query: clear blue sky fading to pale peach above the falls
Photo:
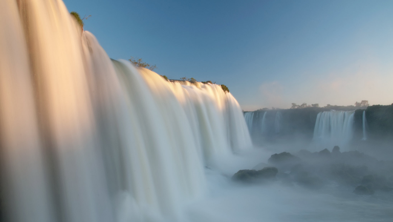
[[[111,58],[225,84],[244,110],[393,103],[393,1],[63,1]]]

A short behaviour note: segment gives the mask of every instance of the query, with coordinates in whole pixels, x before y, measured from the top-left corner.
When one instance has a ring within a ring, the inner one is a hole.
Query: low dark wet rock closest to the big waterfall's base
[[[265,167],[261,170],[239,170],[232,176],[234,181],[261,182],[274,180],[278,169],[275,167]]]

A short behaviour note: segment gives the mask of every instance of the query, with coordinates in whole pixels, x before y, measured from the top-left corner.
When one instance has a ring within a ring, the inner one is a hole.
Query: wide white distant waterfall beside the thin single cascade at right
[[[327,145],[345,145],[353,136],[354,111],[326,111],[317,115],[313,140]]]

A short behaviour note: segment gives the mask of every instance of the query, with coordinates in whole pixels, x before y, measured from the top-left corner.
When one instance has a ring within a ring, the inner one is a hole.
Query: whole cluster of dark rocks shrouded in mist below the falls
[[[338,146],[318,152],[300,150],[294,154],[273,154],[263,170],[239,170],[235,181],[261,182],[258,173],[277,169],[278,183],[311,190],[345,189],[359,195],[393,192],[393,161],[380,161],[359,151],[341,152]],[[383,194],[384,195],[384,194]],[[393,196],[392,196],[393,197]]]

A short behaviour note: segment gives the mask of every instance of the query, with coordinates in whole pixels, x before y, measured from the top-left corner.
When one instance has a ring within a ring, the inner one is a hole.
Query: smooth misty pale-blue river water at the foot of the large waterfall
[[[376,192],[372,196],[353,193],[353,188],[327,186],[308,190],[283,186],[279,181],[269,185],[238,184],[231,181],[237,169],[251,169],[267,162],[270,152],[254,149],[236,157],[215,160],[206,169],[208,194],[186,206],[191,222],[217,221],[392,221],[391,193]]]

